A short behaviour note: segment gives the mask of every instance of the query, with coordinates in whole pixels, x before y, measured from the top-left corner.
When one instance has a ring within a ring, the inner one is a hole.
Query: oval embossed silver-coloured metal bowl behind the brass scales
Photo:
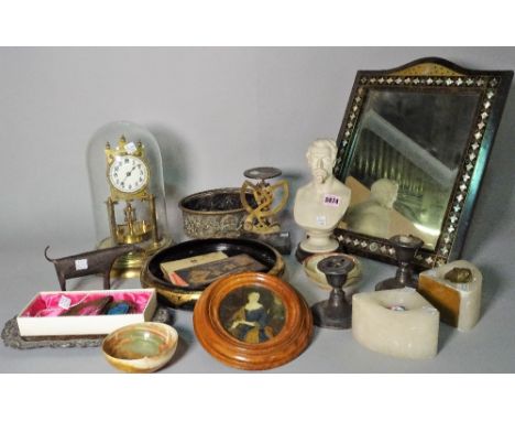
[[[249,204],[254,203],[248,193]],[[240,188],[216,188],[195,193],[179,202],[184,231],[190,238],[235,238],[246,216]]]

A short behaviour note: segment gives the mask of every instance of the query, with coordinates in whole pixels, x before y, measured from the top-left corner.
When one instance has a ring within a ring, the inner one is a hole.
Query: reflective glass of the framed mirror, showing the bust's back
[[[434,250],[479,102],[476,90],[371,89],[346,180],[347,228],[412,234]]]

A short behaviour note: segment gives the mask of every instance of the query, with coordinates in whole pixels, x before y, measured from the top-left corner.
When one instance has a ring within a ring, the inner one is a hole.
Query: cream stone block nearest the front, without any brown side
[[[365,348],[401,358],[432,358],[439,314],[412,288],[362,292],[352,298],[352,335]]]

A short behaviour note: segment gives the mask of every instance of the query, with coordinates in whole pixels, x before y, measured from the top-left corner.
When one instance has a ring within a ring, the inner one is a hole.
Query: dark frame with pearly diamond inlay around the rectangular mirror
[[[475,89],[481,95],[472,127],[468,128],[470,136],[447,204],[440,235],[434,250],[423,248],[417,253],[415,266],[419,270],[441,266],[460,257],[512,78],[512,71],[472,71],[437,57],[420,58],[388,71],[357,73],[337,140],[338,155],[333,173],[342,182],[354,158],[358,143],[354,134],[370,89],[457,93],[467,88]],[[349,253],[396,262],[395,250],[386,238],[341,227],[335,230],[335,235]]]

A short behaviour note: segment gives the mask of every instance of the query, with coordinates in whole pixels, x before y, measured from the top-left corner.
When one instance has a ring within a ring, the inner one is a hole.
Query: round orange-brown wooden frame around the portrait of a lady
[[[219,316],[220,304],[242,287],[269,289],[283,301],[285,322],[276,336],[248,344],[226,331]],[[291,361],[306,349],[313,334],[313,316],[292,285],[270,274],[246,272],[221,279],[204,291],[195,305],[194,328],[200,345],[221,363],[244,370],[265,370]]]

